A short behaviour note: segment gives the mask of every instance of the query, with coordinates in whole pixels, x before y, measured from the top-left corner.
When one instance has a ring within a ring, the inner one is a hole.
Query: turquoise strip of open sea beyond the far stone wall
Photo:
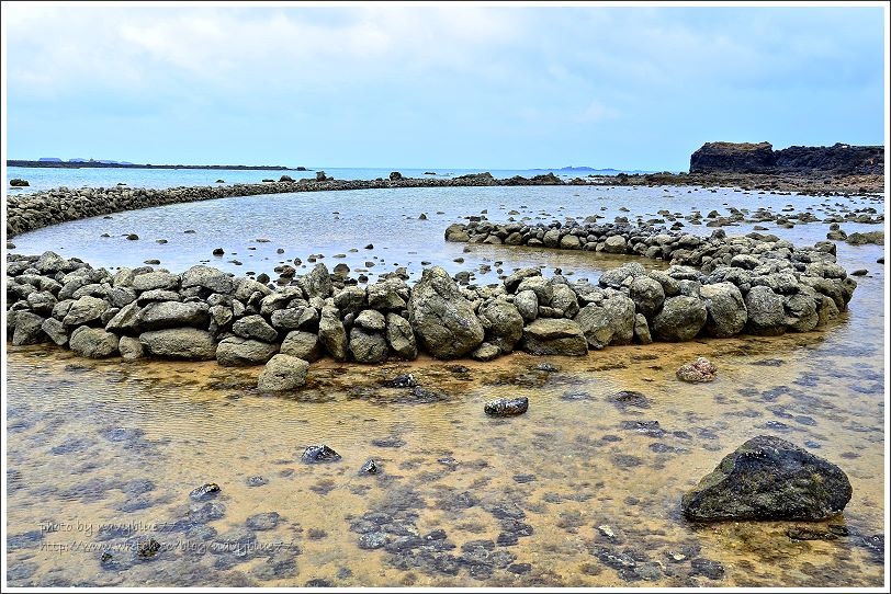
[[[553,171],[555,175],[571,180],[584,178],[589,171],[561,171],[560,169],[517,169],[517,170],[483,170],[483,169],[382,169],[382,168],[308,168],[308,171],[279,171],[279,170],[203,170],[203,169],[115,169],[115,168],[7,168],[7,191],[11,193],[40,192],[53,187],[110,187],[119,183],[131,187],[176,187],[179,185],[215,185],[217,180],[225,184],[260,183],[263,180],[275,180],[282,175],[291,175],[295,180],[316,178],[316,171],[325,171],[328,176],[337,180],[375,180],[387,179],[392,171],[398,171],[406,178],[454,178],[467,173],[482,173],[488,171],[496,178],[512,178],[522,175],[531,178]],[[427,175],[431,172],[436,175]],[[19,178],[27,180],[27,187],[11,189],[9,181]],[[221,184],[222,185],[222,184]]]

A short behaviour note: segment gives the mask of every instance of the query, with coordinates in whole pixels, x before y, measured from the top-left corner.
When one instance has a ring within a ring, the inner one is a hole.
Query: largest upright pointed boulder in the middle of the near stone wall
[[[458,284],[439,266],[424,271],[408,300],[408,321],[421,345],[437,358],[466,355],[485,331]]]

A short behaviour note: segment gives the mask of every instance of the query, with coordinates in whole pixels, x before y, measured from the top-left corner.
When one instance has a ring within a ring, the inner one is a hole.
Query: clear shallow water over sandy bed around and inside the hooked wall
[[[460,214],[469,214],[466,201],[476,196],[473,209],[493,204],[493,220],[505,218],[495,214],[503,203],[505,209],[527,205],[563,216],[560,198],[572,197],[564,189],[466,190]],[[645,194],[633,201],[645,206],[629,204],[631,214],[656,210],[648,204],[662,189],[640,190]],[[347,197],[356,194],[315,199],[339,199],[346,213]],[[678,209],[734,198],[730,192],[696,196]],[[565,202],[567,214],[569,205],[579,214],[599,212]],[[195,236],[208,217],[232,218],[229,204],[216,204],[202,216],[192,212],[188,225]],[[369,236],[375,251],[407,252],[404,243],[418,241],[425,249],[418,256],[435,263],[442,260],[428,253],[466,258],[455,270],[489,258],[504,260],[507,271],[540,262],[594,278],[617,262],[483,245],[463,254],[460,244],[441,240],[452,218],[417,221],[407,216],[417,204],[403,208],[406,217],[397,210],[390,227],[381,227],[383,215],[369,215],[368,222],[357,215],[340,225],[376,228]],[[448,208],[461,210],[459,204]],[[264,206],[252,220],[267,220],[272,210]],[[146,217],[131,220],[145,226],[139,229],[165,220],[170,229],[184,225],[162,213],[126,215]],[[120,253],[100,250],[98,240],[80,244],[80,238],[124,216],[29,233],[15,239],[16,251],[40,253],[56,241],[66,248],[61,253],[94,265],[121,263]],[[337,239],[337,225],[326,220],[317,214],[295,228],[258,222],[227,241],[262,237],[256,231],[262,229],[270,238],[273,231],[325,238],[314,251],[323,241],[343,251],[362,248],[364,239]],[[431,230],[411,239],[427,229],[421,224]],[[210,235],[214,227],[206,229]],[[812,243],[825,231],[811,224],[775,232]],[[133,243],[127,258],[150,256],[150,249],[140,250],[154,242]],[[320,362],[306,389],[286,398],[256,392],[260,368],[92,362],[45,346],[8,347],[10,584],[880,586],[883,537],[881,548],[872,537],[883,534],[886,516],[884,270],[876,264],[883,250],[838,250],[847,270],[870,274],[858,278],[849,312],[826,331],[608,347],[580,358],[515,354],[493,363],[420,359],[373,367]],[[700,355],[718,365],[718,379],[678,381],[675,369]],[[545,361],[559,370],[539,370]],[[409,372],[439,399],[417,402],[407,389],[380,385]],[[620,390],[641,396],[617,401]],[[527,396],[529,412],[487,418],[483,403],[501,396]],[[634,421],[658,421],[658,431],[635,431],[629,425]],[[787,530],[801,523],[698,526],[683,518],[681,494],[758,434],[789,439],[845,470],[854,496],[844,514],[807,526],[825,532],[828,524],[844,525],[848,536],[800,541]],[[303,449],[322,443],[342,460],[303,464]],[[380,475],[358,473],[369,458],[382,467]],[[256,477],[262,480],[249,486]],[[189,492],[205,482],[221,486],[213,500],[221,506],[190,501]],[[268,512],[278,521],[256,517]],[[246,522],[270,529],[248,529]],[[149,538],[161,549],[144,560],[133,548]],[[360,547],[381,539],[387,541],[382,548]],[[104,562],[103,551],[111,555]]]

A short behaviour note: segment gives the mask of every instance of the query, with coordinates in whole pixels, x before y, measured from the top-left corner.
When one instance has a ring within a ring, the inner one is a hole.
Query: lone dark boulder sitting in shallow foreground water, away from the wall
[[[721,519],[827,519],[845,509],[850,481],[841,468],[774,436],[728,455],[681,499],[684,515]]]

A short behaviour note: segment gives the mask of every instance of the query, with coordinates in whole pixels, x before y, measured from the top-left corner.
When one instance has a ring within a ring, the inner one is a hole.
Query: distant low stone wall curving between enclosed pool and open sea
[[[572,183],[587,183],[574,180]],[[458,178],[403,178],[398,171],[384,180],[334,180],[324,171],[316,180],[293,180],[282,175],[278,182],[260,184],[201,185],[153,190],[145,187],[58,187],[46,192],[7,195],[7,236],[14,237],[27,231],[58,225],[70,220],[111,215],[123,210],[136,210],[187,202],[212,201],[260,194],[287,194],[293,192],[325,192],[342,190],[380,190],[388,187],[458,187],[485,185],[563,185],[553,173],[522,178],[496,179],[490,173],[472,173]]]

